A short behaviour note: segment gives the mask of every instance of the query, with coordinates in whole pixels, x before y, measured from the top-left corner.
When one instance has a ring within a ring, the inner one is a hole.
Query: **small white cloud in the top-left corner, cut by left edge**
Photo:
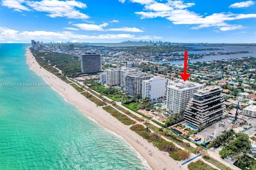
[[[15,11],[21,12],[23,11],[30,11],[29,8],[22,5],[25,0],[2,0],[1,5],[6,6],[8,8],[14,8]]]

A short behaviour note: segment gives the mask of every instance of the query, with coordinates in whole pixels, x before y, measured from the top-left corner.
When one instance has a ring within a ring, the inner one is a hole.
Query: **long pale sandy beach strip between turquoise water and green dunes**
[[[40,65],[36,62],[28,48],[26,50],[26,57],[27,63],[30,65],[30,69],[36,72],[36,74],[42,76],[44,81],[52,84],[52,88],[54,90],[60,93],[67,102],[77,106],[86,117],[91,118],[102,127],[122,137],[122,139],[124,139],[132,149],[137,151],[136,154],[140,154],[138,157],[142,156],[144,160],[146,160],[143,161],[140,159],[142,163],[146,162],[153,170],[161,170],[164,168],[166,168],[166,170],[179,169],[181,162],[177,163],[177,161],[173,160],[168,155],[168,152],[158,150],[158,148],[154,147],[138,134],[131,131],[129,129],[130,126],[122,124],[101,107],[96,107],[96,104],[81,95],[72,86],[63,82],[57,76],[48,72],[44,68],[40,68]],[[137,140],[144,145],[137,143]],[[147,149],[145,149],[145,147],[147,147]],[[153,153],[152,156],[149,155],[149,149],[151,150],[150,152]],[[187,169],[187,166],[182,166],[180,169]]]

